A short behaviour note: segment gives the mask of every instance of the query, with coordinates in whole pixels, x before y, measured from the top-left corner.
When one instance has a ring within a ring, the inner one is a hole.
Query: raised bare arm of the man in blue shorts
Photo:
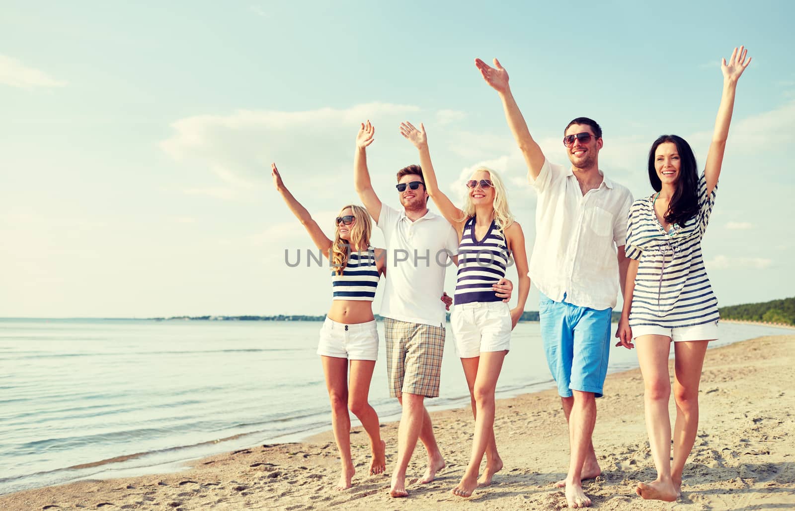
[[[508,127],[510,132],[514,134],[514,139],[516,139],[516,143],[522,151],[522,156],[525,157],[525,163],[527,163],[528,177],[535,181],[539,172],[541,172],[541,167],[544,165],[545,156],[541,152],[541,147],[530,136],[525,117],[522,117],[522,112],[519,111],[514,94],[510,92],[508,71],[500,65],[497,59],[494,59],[494,67],[480,59],[475,59],[475,66],[480,70],[480,74],[483,75],[486,83],[496,90],[500,99],[502,99],[502,109],[505,110]]]

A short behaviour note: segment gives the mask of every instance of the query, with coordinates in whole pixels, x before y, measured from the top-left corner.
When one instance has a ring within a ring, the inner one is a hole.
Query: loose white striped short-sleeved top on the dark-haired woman
[[[712,292],[701,238],[715,204],[715,191],[707,196],[704,174],[698,183],[699,210],[685,222],[665,232],[654,214],[654,195],[635,201],[626,231],[626,256],[639,259],[635,277],[630,327],[664,328],[703,325],[719,320],[718,299]]]

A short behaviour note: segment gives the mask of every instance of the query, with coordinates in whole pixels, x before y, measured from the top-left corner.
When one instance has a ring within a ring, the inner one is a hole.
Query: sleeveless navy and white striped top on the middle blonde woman
[[[505,277],[510,259],[505,237],[498,225],[491,221],[483,240],[475,237],[475,217],[463,225],[458,245],[458,281],[456,305],[471,302],[502,302],[491,288]]]

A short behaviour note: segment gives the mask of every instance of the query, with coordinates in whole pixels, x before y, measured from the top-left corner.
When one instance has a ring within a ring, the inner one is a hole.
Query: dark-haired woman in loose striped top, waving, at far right
[[[638,484],[635,491],[645,499],[675,501],[680,497],[684,462],[696,440],[701,368],[709,341],[718,338],[719,319],[718,301],[701,255],[701,238],[715,204],[737,80],[749,63],[747,50],[741,46],[728,63],[721,64],[723,93],[704,173],[697,174],[696,157],[684,139],[660,136],[649,152],[654,193],[630,208],[626,256],[632,260],[616,336],[617,345],[637,346],[646,387],[646,430],[657,479]],[[677,402],[673,461],[668,413],[672,342]]]

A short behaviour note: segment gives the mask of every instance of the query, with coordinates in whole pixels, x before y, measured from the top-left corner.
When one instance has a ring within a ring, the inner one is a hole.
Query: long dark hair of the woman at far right
[[[673,192],[673,197],[665,212],[665,221],[669,224],[679,224],[684,226],[684,222],[696,216],[698,212],[698,166],[696,156],[684,138],[677,135],[662,135],[651,144],[649,151],[649,182],[654,191],[662,189],[662,182],[657,176],[657,169],[654,167],[654,153],[657,147],[665,142],[672,142],[677,146],[681,168],[679,179],[677,179],[677,190]]]

